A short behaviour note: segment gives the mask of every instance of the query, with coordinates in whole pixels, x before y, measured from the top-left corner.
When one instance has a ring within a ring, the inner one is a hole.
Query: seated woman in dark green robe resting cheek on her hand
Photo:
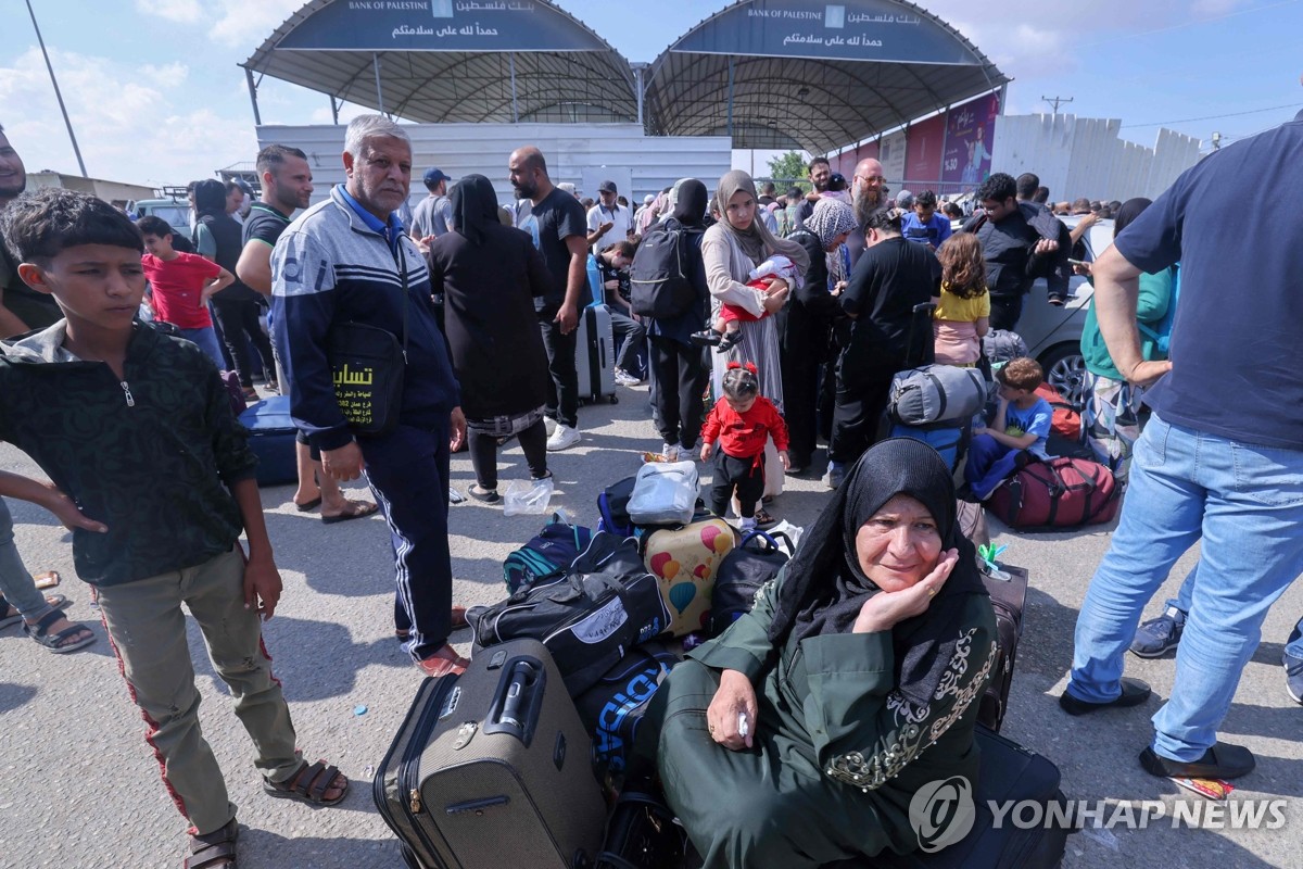
[[[869,448],[752,612],[655,694],[666,797],[705,866],[916,849],[915,792],[976,778],[995,637],[946,463]]]

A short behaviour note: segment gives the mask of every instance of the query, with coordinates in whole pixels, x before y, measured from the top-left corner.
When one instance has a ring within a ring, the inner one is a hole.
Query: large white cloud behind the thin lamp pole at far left
[[[134,66],[104,57],[52,51],[51,60],[93,177],[134,184],[185,184],[253,159],[248,116],[222,116],[181,87],[184,64]],[[29,171],[76,173],[53,89],[40,52],[0,66],[5,128]]]

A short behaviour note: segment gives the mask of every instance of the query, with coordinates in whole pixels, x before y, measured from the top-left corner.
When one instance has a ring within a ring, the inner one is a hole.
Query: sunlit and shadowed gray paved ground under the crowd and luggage
[[[585,524],[595,522],[602,485],[636,470],[637,452],[657,444],[646,421],[646,390],[620,390],[620,404],[581,412],[584,443],[556,455],[554,504]],[[150,444],[139,444],[142,452]],[[25,456],[0,447],[0,468],[36,473]],[[507,451],[503,482],[525,476],[520,449]],[[472,481],[465,453],[453,461],[453,482]],[[224,687],[208,664],[192,624],[192,657],[205,696],[206,734],[241,806],[241,866],[390,869],[400,864],[371,804],[371,765],[378,763],[408,709],[420,674],[392,640],[388,535],[380,519],[323,526],[294,512],[292,490],[263,490],[267,524],[285,594],[266,640],[294,713],[300,745],[309,757],[339,763],[354,780],[335,809],[309,809],[262,795],[249,762],[248,740],[231,713]],[[814,478],[788,479],[777,515],[809,524],[825,494]],[[20,550],[31,569],[59,569],[59,589],[76,603],[70,614],[95,620],[99,642],[56,657],[22,637],[0,633],[0,866],[176,866],[182,823],[165,797],[149,752],[143,723],[130,705],[98,614],[72,567],[69,534],[51,516],[12,503]],[[533,534],[538,517],[507,519],[500,507],[452,508],[453,572],[461,603],[503,595],[502,559]],[[1002,532],[993,524],[993,533]],[[1074,534],[999,533],[1005,558],[1031,569],[1025,634],[1018,658],[1006,735],[1050,757],[1063,771],[1063,790],[1088,800],[1203,803],[1154,779],[1136,765],[1160,705],[1106,711],[1085,719],[1055,704],[1071,661],[1076,610],[1108,530]],[[1164,591],[1175,593],[1186,556]],[[1153,610],[1161,606],[1156,601]],[[1237,796],[1285,797],[1286,826],[1276,831],[1147,830],[1087,831],[1070,839],[1068,869],[1119,866],[1296,866],[1303,851],[1303,709],[1290,702],[1280,667],[1285,637],[1303,611],[1295,588],[1272,612],[1264,642],[1248,664],[1224,734],[1259,758]],[[468,632],[457,634],[466,653]],[[1148,680],[1158,697],[1171,687],[1171,659],[1128,661],[1128,674]],[[365,706],[358,715],[356,707]]]

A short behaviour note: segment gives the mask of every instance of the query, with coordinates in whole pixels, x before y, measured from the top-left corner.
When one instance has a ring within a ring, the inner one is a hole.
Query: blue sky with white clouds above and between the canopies
[[[253,158],[253,112],[236,64],[302,0],[31,1],[90,175],[184,184]],[[727,1],[559,5],[629,60],[650,61]],[[1160,121],[1229,142],[1303,109],[1303,0],[919,5],[1014,77],[1007,113],[1045,112],[1041,96],[1071,96],[1062,111],[1121,119],[1126,138],[1152,146]],[[0,0],[0,124],[29,169],[76,173],[23,0]],[[268,124],[330,122],[324,95],[271,79],[259,106]]]

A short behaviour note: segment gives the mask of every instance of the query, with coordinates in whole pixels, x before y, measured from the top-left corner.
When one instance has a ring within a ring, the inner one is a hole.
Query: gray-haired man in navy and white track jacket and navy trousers
[[[448,644],[465,627],[452,606],[448,456],[466,435],[460,390],[435,322],[430,272],[394,214],[412,182],[412,143],[382,115],[364,115],[344,138],[347,181],[291,223],[271,255],[276,347],[291,414],[337,481],[364,473],[394,538],[395,629],[431,676],[466,661]],[[354,436],[335,397],[327,341],[357,323],[403,344],[397,425]]]

